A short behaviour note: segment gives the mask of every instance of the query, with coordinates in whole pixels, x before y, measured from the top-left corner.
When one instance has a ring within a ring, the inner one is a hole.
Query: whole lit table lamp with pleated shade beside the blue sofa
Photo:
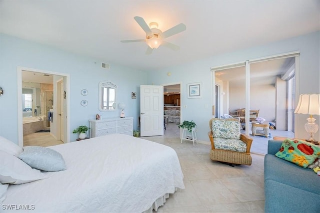
[[[306,119],[307,123],[304,124],[304,129],[309,134],[309,138],[306,139],[306,141],[318,144],[313,137],[318,131],[319,126],[315,123],[316,119],[314,119],[312,115],[320,115],[320,94],[299,95],[298,105],[294,113],[310,115],[310,117]]]

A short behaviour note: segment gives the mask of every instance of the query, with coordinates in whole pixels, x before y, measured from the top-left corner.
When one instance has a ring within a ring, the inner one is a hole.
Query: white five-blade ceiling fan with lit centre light
[[[172,50],[178,50],[180,48],[179,46],[164,41],[163,39],[184,31],[186,29],[186,26],[183,23],[179,23],[178,25],[162,32],[157,28],[158,24],[156,22],[151,22],[148,26],[142,17],[134,16],[134,20],[145,32],[145,39],[121,40],[121,42],[127,43],[145,41],[145,43],[148,45],[145,52],[145,54],[147,55],[151,54],[152,50],[158,48],[160,45],[168,47]]]

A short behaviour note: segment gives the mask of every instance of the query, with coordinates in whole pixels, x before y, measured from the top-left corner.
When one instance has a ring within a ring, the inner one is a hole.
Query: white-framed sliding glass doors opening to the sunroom
[[[298,57],[299,53],[293,52],[212,67],[211,103],[215,116],[235,116],[238,109],[243,109],[242,126],[249,135],[253,119],[250,110],[255,110],[256,117],[265,118],[266,123],[277,126],[278,122],[280,130],[294,131],[297,88],[293,76],[298,71],[294,63]],[[216,85],[220,85],[220,91],[216,91]]]

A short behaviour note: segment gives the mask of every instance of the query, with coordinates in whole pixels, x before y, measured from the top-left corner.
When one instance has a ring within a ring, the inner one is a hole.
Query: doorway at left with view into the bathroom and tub
[[[69,76],[18,67],[18,79],[17,95],[22,97],[18,98],[19,145],[52,146],[68,142]]]

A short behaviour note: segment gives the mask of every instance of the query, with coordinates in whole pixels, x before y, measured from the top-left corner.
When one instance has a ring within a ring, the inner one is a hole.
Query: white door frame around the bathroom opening
[[[70,75],[66,73],[53,72],[48,70],[34,69],[28,67],[17,66],[17,118],[18,118],[18,145],[23,147],[23,124],[22,124],[22,71],[44,73],[49,75],[59,75],[65,79],[66,92],[66,143],[70,142]],[[56,82],[53,82],[55,84]]]

